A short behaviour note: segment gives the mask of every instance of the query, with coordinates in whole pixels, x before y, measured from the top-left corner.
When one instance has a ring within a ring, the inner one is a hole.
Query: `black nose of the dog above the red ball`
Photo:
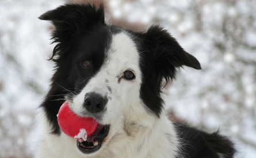
[[[105,104],[105,99],[99,94],[90,93],[85,96],[85,109],[91,113],[104,110]]]

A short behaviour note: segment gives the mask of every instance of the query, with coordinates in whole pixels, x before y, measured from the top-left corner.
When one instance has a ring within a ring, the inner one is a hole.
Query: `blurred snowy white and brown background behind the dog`
[[[54,64],[53,26],[37,17],[64,0],[0,1],[0,157],[30,157],[36,113]],[[90,1],[96,5],[101,1]],[[256,157],[256,1],[110,0],[108,24],[146,31],[161,24],[200,61],[166,86],[173,120],[207,132],[220,129],[239,153]]]

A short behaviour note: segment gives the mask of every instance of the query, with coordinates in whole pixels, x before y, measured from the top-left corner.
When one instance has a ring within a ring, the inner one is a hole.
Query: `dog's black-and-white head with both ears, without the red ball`
[[[41,106],[55,134],[60,133],[56,114],[63,99],[78,115],[100,123],[101,129],[89,138],[98,145],[81,147],[77,142],[86,154],[108,143],[118,120],[131,112],[128,109],[133,109],[130,116],[139,115],[143,109],[159,117],[162,79],[175,78],[176,69],[183,65],[201,68],[195,57],[157,25],[144,33],[106,25],[102,5],[98,9],[91,5],[60,6],[39,18],[52,21],[52,39],[57,43],[52,56],[56,71]]]

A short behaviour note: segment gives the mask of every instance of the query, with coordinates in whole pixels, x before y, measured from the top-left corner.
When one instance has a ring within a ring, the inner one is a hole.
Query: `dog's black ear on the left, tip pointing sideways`
[[[64,5],[47,11],[39,19],[49,20],[55,26],[52,43],[58,44],[54,48],[52,59],[55,55],[66,51],[66,46],[73,41],[72,38],[94,28],[95,25],[105,25],[104,6],[101,4],[97,9],[90,4]]]

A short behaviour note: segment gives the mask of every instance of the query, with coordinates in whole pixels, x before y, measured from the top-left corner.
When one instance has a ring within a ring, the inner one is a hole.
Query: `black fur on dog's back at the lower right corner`
[[[175,127],[182,140],[182,158],[232,158],[236,152],[234,144],[219,132],[209,134],[182,124]]]

